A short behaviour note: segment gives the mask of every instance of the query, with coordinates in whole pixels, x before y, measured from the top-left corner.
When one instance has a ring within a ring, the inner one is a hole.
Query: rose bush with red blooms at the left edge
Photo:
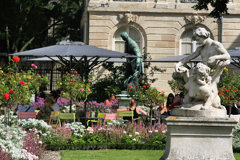
[[[32,94],[38,92],[40,86],[49,83],[47,76],[41,77],[34,69],[18,72],[17,63],[11,60],[9,66],[0,69],[0,105],[29,104]],[[9,99],[4,94],[8,94]]]

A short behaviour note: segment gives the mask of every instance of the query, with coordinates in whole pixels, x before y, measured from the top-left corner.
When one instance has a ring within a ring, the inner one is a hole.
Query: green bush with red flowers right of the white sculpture
[[[221,103],[225,106],[238,102],[240,99],[240,79],[235,73],[225,68],[218,84]]]

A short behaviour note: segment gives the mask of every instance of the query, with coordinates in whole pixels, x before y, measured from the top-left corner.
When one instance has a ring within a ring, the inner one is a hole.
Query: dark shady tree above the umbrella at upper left
[[[82,0],[2,0],[0,51],[13,53],[56,43],[62,37],[80,40]],[[54,35],[48,39],[49,31]]]

